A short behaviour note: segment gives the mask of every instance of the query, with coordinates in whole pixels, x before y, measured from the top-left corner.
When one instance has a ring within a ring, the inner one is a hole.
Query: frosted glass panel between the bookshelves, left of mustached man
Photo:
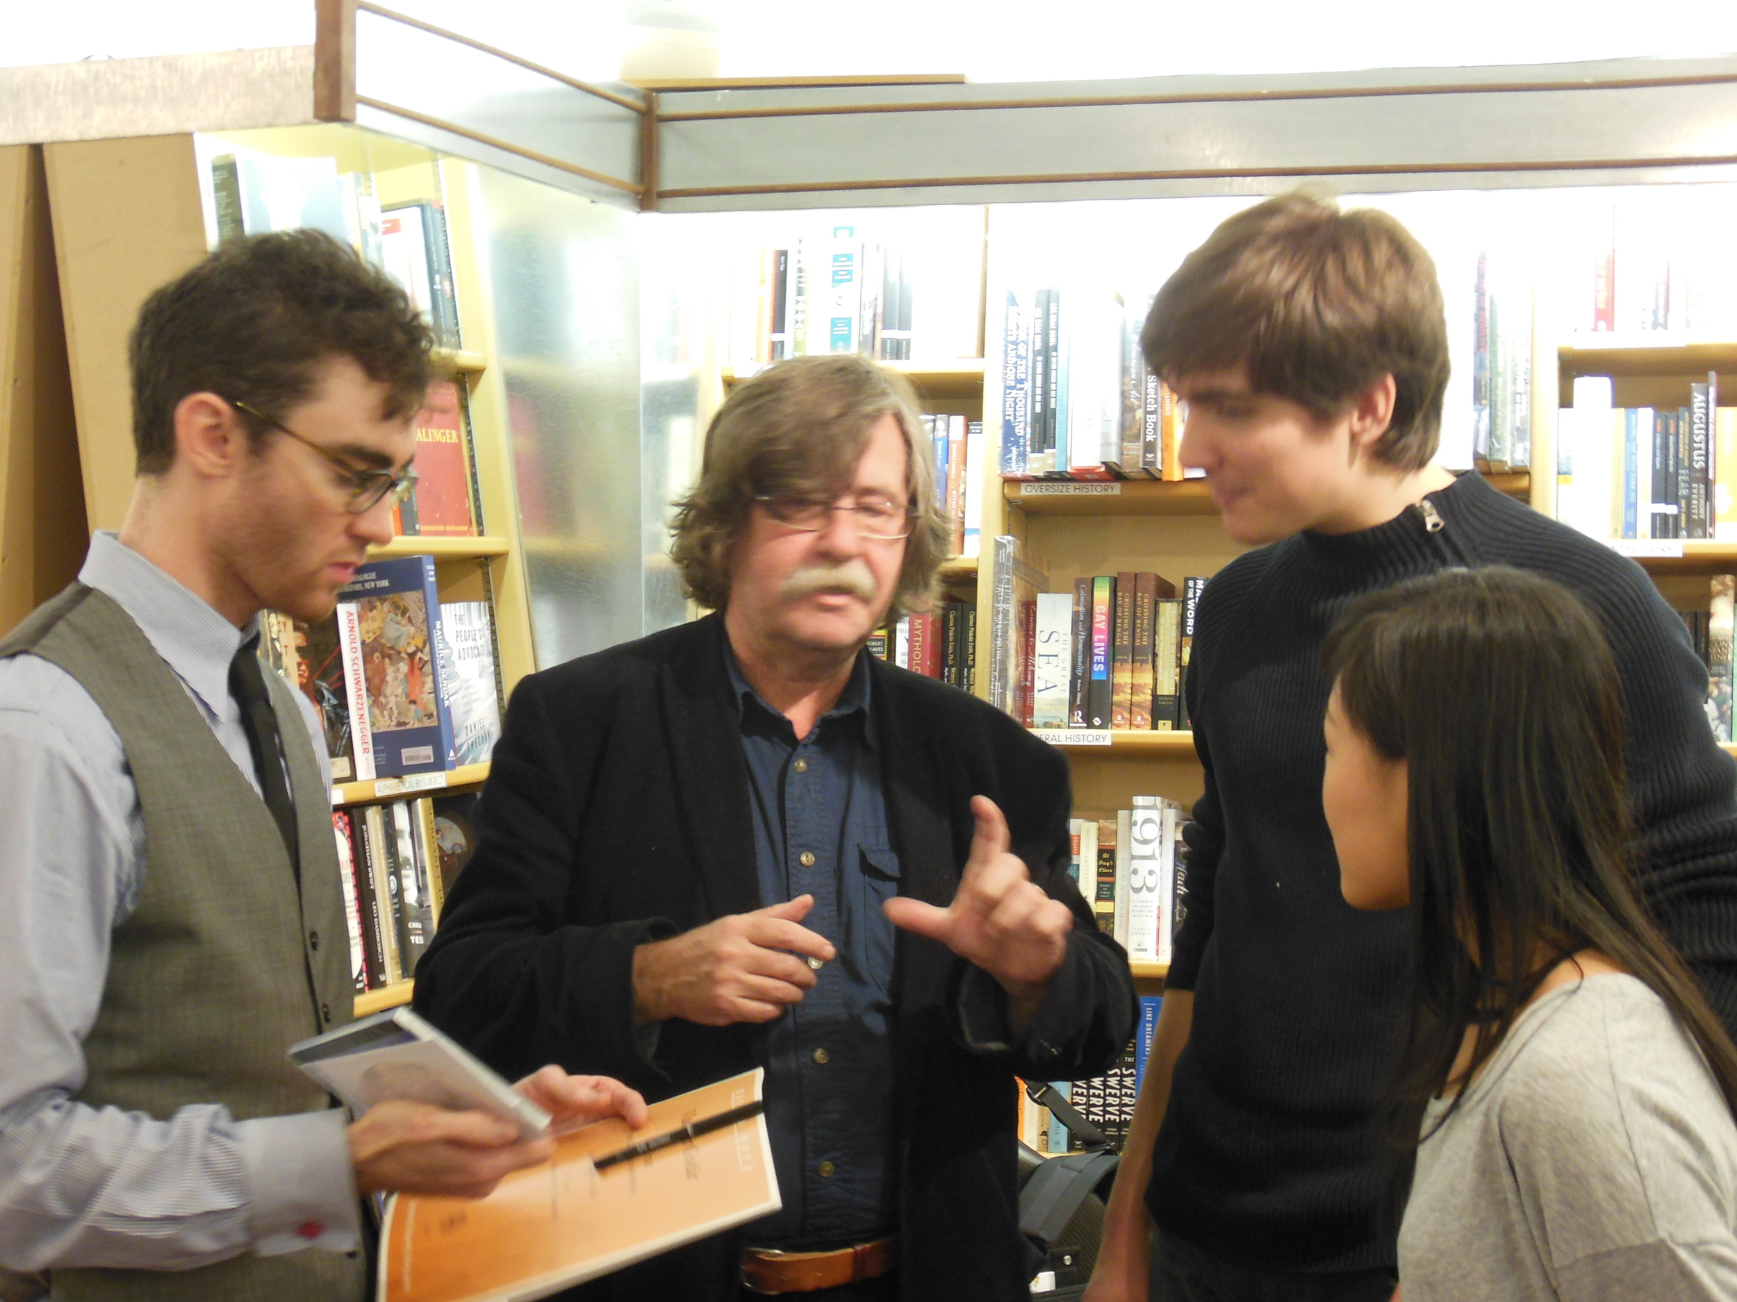
[[[478,168],[542,668],[644,632],[632,215]]]

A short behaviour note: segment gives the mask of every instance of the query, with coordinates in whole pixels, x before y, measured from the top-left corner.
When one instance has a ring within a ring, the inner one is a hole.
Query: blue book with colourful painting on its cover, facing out
[[[439,686],[434,559],[375,561],[339,592],[356,778],[453,767],[452,715]]]

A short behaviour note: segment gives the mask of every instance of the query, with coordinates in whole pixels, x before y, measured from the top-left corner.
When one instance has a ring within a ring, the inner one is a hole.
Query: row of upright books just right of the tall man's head
[[[1532,465],[1532,285],[1489,252],[1473,290],[1471,455],[1485,470]]]

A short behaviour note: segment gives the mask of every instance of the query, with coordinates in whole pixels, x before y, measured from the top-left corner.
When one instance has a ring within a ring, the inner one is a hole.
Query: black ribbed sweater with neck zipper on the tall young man
[[[1376,1229],[1370,1125],[1398,1050],[1403,910],[1339,896],[1320,806],[1320,646],[1358,594],[1449,566],[1509,564],[1567,585],[1622,677],[1645,894],[1737,1033],[1737,766],[1702,710],[1683,621],[1633,561],[1476,474],[1424,512],[1301,533],[1238,557],[1200,599],[1188,681],[1205,792],[1186,830],[1188,917],[1169,986],[1193,1029],[1153,1147],[1146,1205],[1214,1255],[1273,1269],[1393,1266]]]

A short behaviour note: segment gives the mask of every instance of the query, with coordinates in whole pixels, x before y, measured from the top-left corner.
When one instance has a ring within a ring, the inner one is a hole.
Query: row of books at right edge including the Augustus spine
[[[1674,411],[1610,398],[1581,377],[1558,417],[1556,517],[1593,538],[1737,540],[1737,408],[1718,406],[1718,377]]]

